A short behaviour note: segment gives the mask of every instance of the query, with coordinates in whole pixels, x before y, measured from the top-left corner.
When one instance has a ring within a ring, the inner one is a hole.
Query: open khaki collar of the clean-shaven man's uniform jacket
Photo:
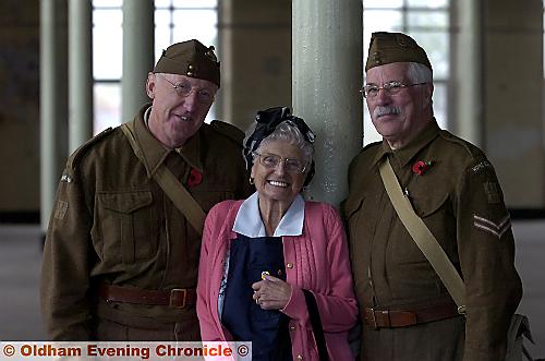
[[[148,177],[157,171],[157,168],[165,161],[169,153],[172,151],[159,142],[147,128],[147,119],[150,112],[150,105],[143,107],[134,119],[135,137],[141,147],[144,166],[146,167]],[[205,127],[206,124],[203,124]],[[183,146],[175,148],[183,159],[199,172],[203,172],[203,161],[201,159],[203,149],[201,148],[201,132],[202,129],[193,135]]]

